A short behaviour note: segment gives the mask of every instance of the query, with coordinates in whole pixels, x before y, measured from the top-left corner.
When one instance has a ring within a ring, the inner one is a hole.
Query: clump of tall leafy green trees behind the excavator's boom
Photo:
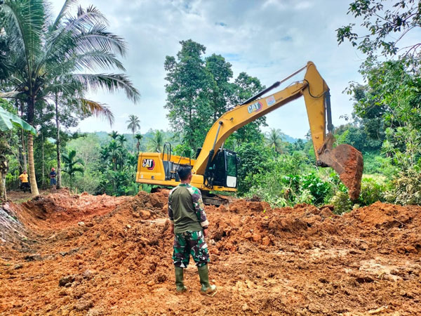
[[[221,114],[241,104],[264,86],[260,80],[241,72],[234,82],[232,65],[221,55],[203,58],[206,47],[192,41],[180,41],[181,50],[174,56],[166,56],[166,92],[168,119],[174,131],[180,133],[187,151],[196,152],[203,144],[206,131]],[[227,140],[227,147],[234,148],[249,140],[261,140],[260,118],[239,129]],[[181,131],[180,131],[181,130]]]

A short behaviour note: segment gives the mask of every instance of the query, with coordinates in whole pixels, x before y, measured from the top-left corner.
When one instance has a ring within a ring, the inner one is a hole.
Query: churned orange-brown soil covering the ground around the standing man
[[[206,206],[212,298],[174,291],[167,198],[2,206],[0,315],[421,315],[420,206]]]

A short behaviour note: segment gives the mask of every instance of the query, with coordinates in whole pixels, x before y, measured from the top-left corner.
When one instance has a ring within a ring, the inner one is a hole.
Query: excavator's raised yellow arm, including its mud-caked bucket
[[[204,175],[205,185],[206,182],[208,182],[208,185],[211,185],[209,181],[212,178],[213,158],[217,154],[218,149],[222,147],[225,140],[234,131],[250,123],[250,121],[254,121],[286,105],[286,103],[304,96],[314,153],[316,155],[316,164],[322,167],[330,166],[335,169],[339,173],[342,183],[348,187],[349,197],[351,199],[359,197],[363,171],[362,154],[354,147],[345,144],[333,149],[335,139],[331,134],[333,125],[330,114],[328,85],[317,71],[313,62],[307,62],[306,67],[303,67],[298,72],[302,70],[306,70],[303,81],[296,82],[270,96],[259,98],[268,90],[279,86],[280,82],[277,82],[254,98],[247,100],[246,103],[237,105],[232,110],[225,112],[218,121],[215,121],[208,131],[201,152],[193,165],[193,173]],[[290,77],[298,72],[295,72]],[[327,134],[326,119],[329,132]]]

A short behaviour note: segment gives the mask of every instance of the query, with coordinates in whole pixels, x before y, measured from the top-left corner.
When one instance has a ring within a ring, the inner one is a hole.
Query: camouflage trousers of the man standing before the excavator
[[[196,266],[201,267],[209,262],[208,245],[203,231],[175,233],[173,261],[176,267],[187,268],[192,255]]]

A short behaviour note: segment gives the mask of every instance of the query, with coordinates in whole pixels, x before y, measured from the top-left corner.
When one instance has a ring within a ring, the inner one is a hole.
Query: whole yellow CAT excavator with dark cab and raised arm
[[[264,96],[303,70],[306,72],[302,81],[297,81],[272,95]],[[300,96],[304,96],[307,107],[316,165],[335,169],[342,183],[348,187],[349,197],[357,199],[361,189],[363,156],[350,145],[342,144],[333,148],[335,138],[332,135],[329,88],[313,62],[307,62],[305,67],[222,114],[208,131],[202,147],[197,150],[196,159],[171,154],[171,144],[168,143],[164,145],[161,153],[140,152],[136,182],[174,187],[180,183],[178,166],[189,164],[193,173],[191,184],[202,191],[203,201],[207,204],[220,204],[218,197],[211,195],[210,191],[233,192],[236,191],[238,183],[238,159],[235,152],[224,148],[225,140],[250,121]]]

